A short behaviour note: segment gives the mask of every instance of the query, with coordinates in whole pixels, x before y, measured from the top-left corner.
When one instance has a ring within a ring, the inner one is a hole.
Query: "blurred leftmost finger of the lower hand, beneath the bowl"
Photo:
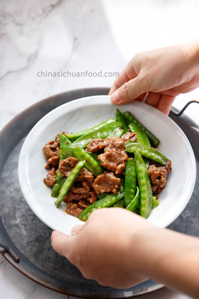
[[[71,237],[62,232],[53,231],[51,234],[51,246],[58,254],[66,256]]]

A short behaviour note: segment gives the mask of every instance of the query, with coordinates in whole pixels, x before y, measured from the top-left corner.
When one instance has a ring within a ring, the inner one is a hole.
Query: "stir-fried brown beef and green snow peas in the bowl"
[[[148,218],[159,205],[171,161],[156,147],[159,140],[130,112],[87,130],[59,133],[43,147],[57,208],[86,221],[92,211],[120,207]]]

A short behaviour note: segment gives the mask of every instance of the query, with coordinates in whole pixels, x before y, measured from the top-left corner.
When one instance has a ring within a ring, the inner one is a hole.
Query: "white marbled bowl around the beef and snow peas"
[[[110,96],[81,98],[49,112],[30,131],[21,148],[18,163],[18,176],[22,193],[32,211],[45,224],[54,230],[71,234],[75,224],[84,224],[66,213],[66,204],[57,209],[51,197],[51,187],[43,183],[47,175],[46,158],[43,146],[54,140],[58,132],[78,132],[96,123],[115,118],[116,106],[111,104]],[[147,127],[160,140],[158,149],[172,163],[168,182],[160,193],[160,205],[152,209],[148,218],[158,227],[166,227],[182,213],[186,207],[196,179],[196,162],[189,140],[174,121],[159,110],[133,101],[119,106]]]

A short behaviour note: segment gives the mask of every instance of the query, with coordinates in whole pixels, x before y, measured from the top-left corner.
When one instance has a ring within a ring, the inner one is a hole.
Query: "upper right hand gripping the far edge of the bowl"
[[[175,45],[135,55],[115,79],[111,101],[121,105],[142,101],[169,114],[180,93],[199,86],[199,43]]]

